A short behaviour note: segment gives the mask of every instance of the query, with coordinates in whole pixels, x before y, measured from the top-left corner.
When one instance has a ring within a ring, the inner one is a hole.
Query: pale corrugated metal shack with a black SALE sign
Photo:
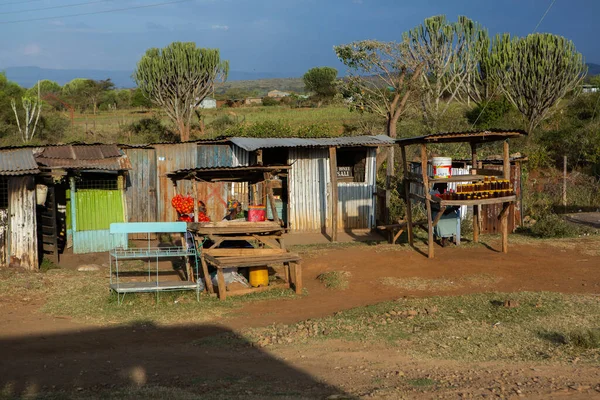
[[[387,136],[356,136],[324,139],[231,138],[231,142],[256,154],[263,165],[290,165],[282,178],[281,196],[291,232],[325,233],[372,229],[375,226],[376,154],[394,143]],[[333,158],[331,155],[334,155]],[[335,161],[332,164],[332,161]],[[331,174],[331,165],[336,173]],[[337,193],[332,193],[332,178]],[[337,220],[331,215],[337,197]]]

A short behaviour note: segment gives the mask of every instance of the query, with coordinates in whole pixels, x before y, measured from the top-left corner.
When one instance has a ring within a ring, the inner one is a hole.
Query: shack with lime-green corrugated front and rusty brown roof
[[[49,199],[65,217],[66,226],[56,226],[50,234],[66,230],[66,246],[73,253],[107,251],[111,246],[127,246],[126,236],[115,240],[109,235],[112,222],[127,220],[125,171],[131,163],[116,145],[82,144],[48,146],[36,151],[35,159],[52,186]]]

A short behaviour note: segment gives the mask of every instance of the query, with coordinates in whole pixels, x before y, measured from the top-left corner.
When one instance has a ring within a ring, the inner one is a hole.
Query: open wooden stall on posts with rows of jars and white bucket
[[[448,235],[448,221],[453,208],[470,206],[473,209],[473,241],[479,242],[479,208],[483,205],[497,204],[502,233],[502,252],[508,252],[508,209],[516,201],[515,188],[510,183],[509,139],[526,135],[523,131],[471,131],[436,133],[414,138],[399,139],[397,143],[402,151],[404,163],[404,189],[407,203],[406,227],[408,241],[413,243],[412,200],[425,203],[427,209],[428,257],[434,257],[434,231],[438,236]],[[451,159],[436,157],[428,161],[427,146],[439,143],[469,143],[473,166],[477,166],[477,147],[484,143],[503,141],[502,170],[472,168],[470,174],[452,175]],[[411,172],[406,147],[418,145],[421,156],[421,173]],[[431,164],[432,168],[429,168]],[[432,171],[430,176],[429,171]],[[413,185],[411,185],[413,183]],[[455,183],[455,190],[447,190],[449,183]],[[411,190],[420,187],[422,190]],[[460,221],[460,219],[458,220]],[[460,235],[460,232],[458,233]]]

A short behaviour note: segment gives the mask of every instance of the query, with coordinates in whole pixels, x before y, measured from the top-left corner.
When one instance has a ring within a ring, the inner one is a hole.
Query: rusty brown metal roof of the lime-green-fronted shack
[[[49,146],[35,159],[42,168],[120,171],[131,169],[127,156],[114,144]]]

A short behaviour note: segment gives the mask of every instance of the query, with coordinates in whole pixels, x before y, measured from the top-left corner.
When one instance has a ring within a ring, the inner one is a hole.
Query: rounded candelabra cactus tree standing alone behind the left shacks
[[[146,51],[133,78],[153,103],[160,106],[176,125],[182,141],[190,139],[194,110],[213,90],[216,80],[227,79],[229,62],[218,49],[174,42],[163,49]]]

